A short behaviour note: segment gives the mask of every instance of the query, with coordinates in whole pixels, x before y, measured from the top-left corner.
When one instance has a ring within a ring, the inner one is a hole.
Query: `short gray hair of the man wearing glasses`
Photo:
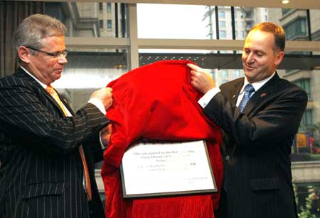
[[[65,36],[67,28],[61,21],[44,14],[33,14],[23,19],[14,32],[13,46],[17,52],[19,46],[43,47],[43,38],[50,36]],[[36,54],[36,51],[31,51]]]

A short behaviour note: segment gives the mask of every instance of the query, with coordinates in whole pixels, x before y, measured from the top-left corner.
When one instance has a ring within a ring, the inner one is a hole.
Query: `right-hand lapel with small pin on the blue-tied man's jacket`
[[[262,87],[252,95],[249,102],[245,106],[243,113],[249,115],[257,105],[269,99],[270,96],[272,96],[272,94],[277,90],[277,81],[279,81],[279,79],[280,78],[276,73],[274,77],[270,79],[270,81],[267,81],[265,85],[262,85]]]

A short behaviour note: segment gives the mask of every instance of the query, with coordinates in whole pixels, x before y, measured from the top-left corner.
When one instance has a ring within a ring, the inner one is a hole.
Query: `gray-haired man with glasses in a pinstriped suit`
[[[65,31],[57,19],[35,14],[14,35],[21,67],[0,79],[2,218],[105,217],[93,163],[106,145],[100,130],[109,123],[112,89],[95,91],[73,113],[50,87],[67,63]]]

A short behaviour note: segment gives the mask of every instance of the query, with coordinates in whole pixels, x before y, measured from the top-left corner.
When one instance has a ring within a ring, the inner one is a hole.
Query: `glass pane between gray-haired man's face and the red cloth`
[[[93,91],[128,71],[127,51],[70,51],[67,58],[63,75],[53,87],[64,95],[75,111],[87,103]]]

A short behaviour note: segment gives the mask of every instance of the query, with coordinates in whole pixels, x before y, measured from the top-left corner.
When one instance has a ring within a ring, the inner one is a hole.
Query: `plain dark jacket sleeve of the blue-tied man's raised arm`
[[[215,95],[203,110],[238,145],[257,147],[297,133],[306,103],[304,90],[291,87],[255,105],[250,115],[240,113],[223,93]]]

